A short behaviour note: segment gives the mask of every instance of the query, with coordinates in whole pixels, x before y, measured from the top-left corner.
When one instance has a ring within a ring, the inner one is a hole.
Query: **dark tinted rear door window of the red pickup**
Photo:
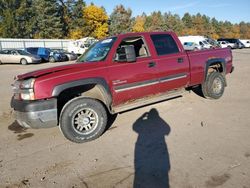
[[[151,35],[151,39],[158,55],[167,55],[179,52],[177,44],[169,34]]]

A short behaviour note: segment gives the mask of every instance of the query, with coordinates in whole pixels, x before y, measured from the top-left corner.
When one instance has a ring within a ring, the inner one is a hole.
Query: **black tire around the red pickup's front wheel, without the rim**
[[[82,108],[94,110],[98,116],[97,127],[89,134],[80,134],[72,125],[75,112]],[[60,129],[63,135],[72,142],[83,143],[94,140],[102,135],[107,125],[107,112],[104,106],[97,100],[89,98],[76,98],[68,102],[60,116]]]

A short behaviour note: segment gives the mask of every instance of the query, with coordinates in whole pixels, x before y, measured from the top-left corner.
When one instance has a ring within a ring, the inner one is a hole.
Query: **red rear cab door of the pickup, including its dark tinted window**
[[[171,34],[152,34],[155,48],[154,62],[158,68],[161,93],[188,85],[190,80],[189,60],[185,51],[178,48]]]

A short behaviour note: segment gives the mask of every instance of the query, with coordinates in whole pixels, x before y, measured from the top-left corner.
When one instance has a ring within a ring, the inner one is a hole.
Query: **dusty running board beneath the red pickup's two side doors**
[[[182,96],[182,94],[185,93],[185,92],[186,92],[185,89],[178,89],[178,90],[169,91],[167,93],[157,94],[157,95],[137,99],[137,100],[134,100],[134,101],[129,101],[127,103],[124,103],[124,104],[121,104],[121,105],[118,105],[118,106],[113,106],[112,107],[112,112],[114,114],[119,113],[119,112],[124,112],[124,111],[131,110],[131,109],[134,109],[134,108],[146,106],[148,104],[152,104],[152,103],[164,101],[164,100],[167,100],[167,99],[179,97],[179,96]]]

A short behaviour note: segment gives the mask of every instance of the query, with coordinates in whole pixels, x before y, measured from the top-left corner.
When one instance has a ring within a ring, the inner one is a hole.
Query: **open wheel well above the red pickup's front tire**
[[[64,105],[68,101],[80,96],[96,99],[101,103],[103,103],[103,105],[105,106],[105,108],[107,108],[107,110],[110,110],[109,106],[111,101],[108,98],[105,89],[99,84],[87,84],[83,86],[76,86],[65,89],[59,94],[59,96],[57,97],[58,119]]]

